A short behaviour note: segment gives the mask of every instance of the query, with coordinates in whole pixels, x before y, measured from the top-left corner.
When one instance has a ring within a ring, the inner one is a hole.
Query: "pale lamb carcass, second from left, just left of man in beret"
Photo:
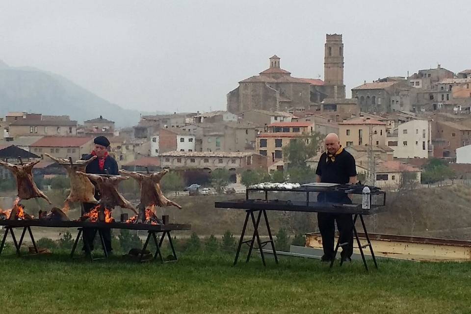
[[[47,157],[51,158],[55,162],[61,164],[65,168],[67,174],[70,178],[70,193],[67,196],[65,202],[83,202],[83,203],[93,203],[97,204],[98,201],[95,199],[95,185],[91,183],[90,179],[87,176],[84,176],[81,172],[85,171],[86,166],[94,159],[96,156],[91,157],[88,160],[77,160],[72,165],[69,163],[69,160],[64,158],[52,157],[49,154],[44,154]],[[80,171],[80,172],[79,172]],[[70,205],[70,204],[69,204]]]

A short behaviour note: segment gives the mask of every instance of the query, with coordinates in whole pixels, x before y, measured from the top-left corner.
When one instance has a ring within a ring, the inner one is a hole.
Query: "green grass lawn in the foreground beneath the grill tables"
[[[160,264],[0,258],[1,313],[471,313],[470,263],[361,262],[189,255]]]

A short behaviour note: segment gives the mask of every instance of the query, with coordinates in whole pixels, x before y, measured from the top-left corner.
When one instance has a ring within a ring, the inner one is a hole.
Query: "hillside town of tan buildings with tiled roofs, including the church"
[[[397,188],[406,173],[419,183],[421,168],[433,157],[468,172],[471,70],[458,70],[438,64],[408,77],[385,73],[352,88],[346,98],[342,35],[327,34],[324,80],[294,77],[273,55],[266,70],[228,92],[225,111],[143,115],[137,125],[121,129],[105,115],[78,124],[74,117],[18,108],[0,118],[0,158],[47,153],[78,159],[91,150],[94,137],[105,135],[122,168],[226,169],[232,182],[240,182],[246,170],[285,171],[284,148],[291,141],[335,132],[356,157],[359,173],[372,172],[375,185]],[[306,161],[315,168],[318,155]],[[47,159],[37,168],[55,173]],[[1,171],[1,178],[8,176]]]

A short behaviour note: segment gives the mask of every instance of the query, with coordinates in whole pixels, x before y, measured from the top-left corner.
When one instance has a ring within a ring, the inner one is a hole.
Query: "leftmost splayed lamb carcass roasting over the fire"
[[[29,200],[35,197],[44,198],[49,204],[52,204],[49,198],[36,186],[33,178],[33,167],[40,160],[28,162],[25,164],[12,164],[0,160],[0,166],[11,171],[16,178],[16,186],[18,188],[18,197],[20,200]]]

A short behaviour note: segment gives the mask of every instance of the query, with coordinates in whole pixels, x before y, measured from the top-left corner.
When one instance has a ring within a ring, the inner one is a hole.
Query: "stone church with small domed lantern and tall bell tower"
[[[344,99],[342,35],[327,34],[326,39],[324,81],[292,77],[274,55],[268,69],[239,81],[239,86],[227,94],[227,110],[235,114],[252,109],[287,111],[293,107],[310,108],[325,98]]]

